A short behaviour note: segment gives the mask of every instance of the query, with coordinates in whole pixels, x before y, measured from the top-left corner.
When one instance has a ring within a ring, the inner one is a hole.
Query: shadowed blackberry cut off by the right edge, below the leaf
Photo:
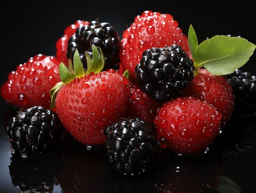
[[[250,72],[236,69],[233,73],[224,75],[232,86],[235,94],[234,115],[255,114],[256,112],[256,76]]]

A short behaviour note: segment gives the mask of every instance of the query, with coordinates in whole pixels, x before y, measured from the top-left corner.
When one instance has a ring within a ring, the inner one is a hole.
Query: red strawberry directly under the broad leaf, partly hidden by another
[[[204,68],[198,73],[183,92],[184,96],[194,96],[213,104],[222,114],[222,128],[225,127],[234,110],[235,96],[232,86],[223,76],[215,76]]]

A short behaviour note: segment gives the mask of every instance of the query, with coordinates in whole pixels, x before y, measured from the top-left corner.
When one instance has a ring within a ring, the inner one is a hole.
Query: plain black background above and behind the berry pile
[[[17,65],[26,62],[31,56],[36,54],[54,56],[56,41],[63,36],[65,27],[73,24],[76,20],[92,21],[99,18],[100,22],[110,22],[117,29],[119,37],[122,38],[122,32],[130,26],[137,15],[140,15],[143,11],[151,10],[173,15],[173,18],[177,20],[179,27],[186,35],[189,25],[192,24],[199,43],[207,37],[230,34],[232,36],[241,36],[256,44],[254,30],[256,21],[255,7],[246,1],[240,2],[240,4],[225,1],[211,3],[203,1],[203,3],[198,3],[196,1],[185,2],[179,0],[151,2],[148,0],[120,0],[116,2],[107,0],[103,2],[45,0],[31,2],[8,1],[5,6],[0,8],[2,32],[2,37],[0,38],[0,85],[7,81],[9,72],[15,70]],[[243,66],[243,69],[256,74],[255,54]],[[8,108],[11,108],[11,105],[7,104],[2,98],[0,98],[0,105],[0,116],[4,117],[4,113]],[[6,147],[8,142],[7,140],[4,141],[6,134],[2,125],[0,129],[0,144],[1,146],[4,144]],[[5,153],[4,156],[7,157],[7,160],[4,163],[0,163],[2,178],[0,179],[0,191],[4,189],[4,184],[11,184],[9,175],[4,175],[4,173],[8,172],[8,157],[10,155],[7,149],[1,150],[1,152]],[[0,156],[2,157],[2,155]],[[239,159],[243,160],[243,157]],[[252,161],[247,162],[250,165]],[[3,165],[4,168],[2,168]],[[253,169],[255,173],[255,167]],[[235,170],[233,172],[236,173]],[[237,179],[237,181],[239,180]],[[250,189],[247,187],[247,182],[238,183],[244,187],[245,191],[243,192],[249,192]],[[252,187],[252,184],[249,186]],[[16,188],[14,190],[17,191]]]

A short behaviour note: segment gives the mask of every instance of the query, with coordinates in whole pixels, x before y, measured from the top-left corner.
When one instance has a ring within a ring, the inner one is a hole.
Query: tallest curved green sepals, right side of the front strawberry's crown
[[[98,49],[99,48],[99,49]],[[92,45],[92,59],[90,56],[85,53],[86,61],[87,61],[87,71],[86,74],[90,74],[94,72],[95,74],[101,72],[105,65],[105,56],[100,47],[96,47]]]

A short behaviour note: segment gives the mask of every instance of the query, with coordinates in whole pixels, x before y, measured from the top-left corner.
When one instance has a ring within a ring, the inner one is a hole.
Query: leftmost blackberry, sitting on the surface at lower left
[[[23,157],[51,153],[62,133],[57,114],[34,106],[11,117],[6,127],[7,139]]]

